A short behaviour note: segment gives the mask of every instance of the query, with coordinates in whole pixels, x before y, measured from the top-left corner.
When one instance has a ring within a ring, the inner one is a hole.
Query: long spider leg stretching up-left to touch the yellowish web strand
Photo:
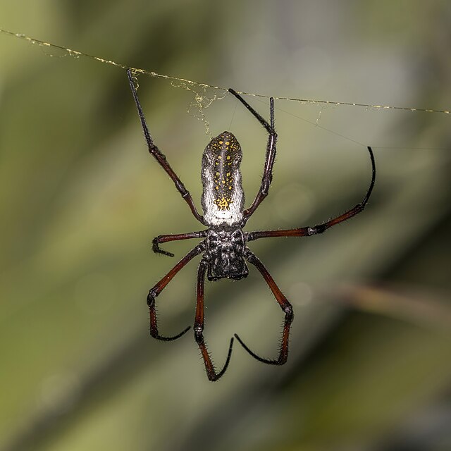
[[[138,110],[138,115],[140,116],[141,125],[142,125],[142,131],[144,132],[144,138],[147,142],[147,147],[149,148],[150,154],[154,156],[156,161],[160,163],[160,166],[166,171],[166,173],[171,177],[173,180],[173,183],[175,184],[175,187],[177,188],[178,192],[180,192],[180,195],[185,199],[185,202],[190,206],[190,209],[192,211],[192,214],[194,215],[194,218],[197,219],[200,223],[204,223],[204,218],[199,214],[199,212],[196,209],[196,206],[194,205],[194,202],[192,200],[190,192],[185,188],[185,185],[183,185],[182,181],[173,171],[173,168],[169,165],[168,161],[166,160],[166,156],[164,156],[160,149],[156,147],[156,144],[154,143],[154,140],[152,140],[152,136],[150,135],[149,128],[147,128],[147,123],[144,118],[144,113],[142,112],[140,99],[138,99],[138,94],[136,92],[135,88],[135,82],[133,82],[133,76],[130,69],[127,69],[127,75],[128,75],[128,81],[130,82],[130,89],[132,89],[132,95],[133,99],[135,99],[135,104]]]

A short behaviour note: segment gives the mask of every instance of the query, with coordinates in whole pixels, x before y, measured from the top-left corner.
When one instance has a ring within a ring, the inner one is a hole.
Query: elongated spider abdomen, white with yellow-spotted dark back
[[[242,150],[233,133],[213,138],[202,156],[202,209],[209,226],[232,226],[242,220],[245,196],[240,163]]]

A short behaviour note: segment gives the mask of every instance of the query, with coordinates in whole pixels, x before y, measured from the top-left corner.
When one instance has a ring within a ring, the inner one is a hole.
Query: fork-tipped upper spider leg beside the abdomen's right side
[[[274,128],[274,99],[271,97],[269,99],[269,114],[270,114],[270,123],[266,121],[263,117],[260,116],[257,111],[255,111],[252,106],[250,106],[245,99],[243,99],[240,94],[237,94],[232,88],[228,89],[228,91],[233,94],[251,113],[257,118],[257,121],[264,126],[266,131],[268,132],[268,143],[266,144],[266,158],[265,158],[265,166],[263,171],[263,176],[261,178],[261,185],[257,196],[254,199],[254,202],[251,206],[245,211],[243,211],[244,223],[252,216],[254,211],[257,209],[259,204],[264,200],[264,198],[268,195],[269,185],[271,185],[271,181],[273,180],[273,166],[274,160],[276,159],[276,142],[277,142],[277,133]]]

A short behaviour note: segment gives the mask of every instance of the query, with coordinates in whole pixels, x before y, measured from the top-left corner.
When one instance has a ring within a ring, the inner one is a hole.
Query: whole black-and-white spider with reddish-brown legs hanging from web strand
[[[245,232],[242,229],[245,227],[247,221],[252,216],[258,206],[268,195],[269,185],[271,185],[272,172],[274,166],[274,159],[276,157],[276,142],[277,133],[274,128],[274,99],[271,97],[269,101],[269,123],[266,121],[252,106],[250,106],[240,94],[237,94],[234,89],[228,89],[230,94],[233,94],[259,121],[268,132],[268,143],[266,145],[266,159],[264,163],[264,173],[261,178],[261,186],[257,196],[252,202],[249,208],[245,209],[244,202],[245,196],[242,190],[242,180],[240,172],[240,163],[242,159],[242,150],[237,139],[231,132],[222,132],[220,135],[214,137],[209,144],[207,144],[204,154],[202,156],[202,210],[204,215],[200,215],[194,205],[190,192],[185,188],[185,185],[181,182],[180,178],[175,174],[173,168],[169,165],[164,156],[149,133],[147,123],[144,118],[144,113],[138,99],[135,82],[130,69],[127,70],[128,81],[130,83],[130,89],[132,90],[133,99],[137,107],[138,115],[144,132],[144,138],[147,142],[150,154],[154,156],[160,166],[166,171],[169,177],[173,180],[175,188],[180,192],[182,198],[188,204],[191,209],[194,218],[199,221],[203,226],[206,226],[206,230],[200,230],[198,232],[180,233],[178,235],[159,235],[153,240],[152,249],[154,252],[174,257],[174,254],[163,250],[159,247],[162,243],[176,241],[176,240],[188,240],[190,238],[203,238],[196,247],[188,252],[178,264],[164,276],[159,283],[156,283],[154,287],[149,290],[147,295],[147,305],[149,306],[150,315],[150,335],[157,340],[171,341],[180,338],[182,335],[190,330],[191,326],[182,330],[178,335],[172,337],[165,337],[159,333],[159,328],[156,320],[156,297],[166,288],[169,282],[173,279],[175,274],[180,271],[187,263],[189,263],[194,257],[199,254],[202,255],[202,259],[199,263],[197,271],[197,303],[196,303],[196,315],[194,319],[194,338],[199,346],[199,350],[204,360],[206,376],[210,381],[217,381],[228,368],[230,357],[233,348],[233,337],[230,338],[230,345],[228,348],[228,355],[226,363],[223,365],[221,371],[216,371],[216,368],[211,361],[209,351],[207,350],[206,343],[204,341],[204,281],[205,276],[209,280],[219,280],[221,278],[239,280],[247,277],[249,270],[247,268],[246,261],[254,265],[261,273],[264,280],[268,284],[268,287],[273,292],[276,301],[285,314],[283,321],[283,333],[280,347],[278,350],[278,357],[276,359],[264,359],[255,352],[249,349],[245,342],[235,334],[235,338],[240,342],[242,347],[252,356],[254,359],[259,360],[265,364],[270,365],[283,365],[288,359],[288,337],[290,335],[290,326],[293,321],[293,309],[288,299],[280,291],[276,282],[271,277],[271,274],[261,263],[258,257],[247,247],[247,242],[259,240],[260,238],[269,237],[308,237],[311,235],[318,235],[323,233],[330,227],[335,226],[338,223],[347,221],[356,214],[363,211],[366,203],[369,200],[371,191],[373,190],[374,182],[376,180],[376,163],[374,161],[373,151],[371,147],[368,147],[369,156],[371,159],[371,183],[369,189],[362,202],[352,207],[352,209],[346,211],[344,214],[330,219],[325,223],[318,224],[311,227],[293,228],[289,230],[264,230],[257,232]]]

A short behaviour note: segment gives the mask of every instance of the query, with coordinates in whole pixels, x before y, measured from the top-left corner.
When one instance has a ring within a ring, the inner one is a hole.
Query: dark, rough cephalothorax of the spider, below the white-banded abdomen
[[[209,280],[242,279],[249,270],[245,263],[245,234],[240,227],[210,228],[206,235],[205,257],[209,262]]]

